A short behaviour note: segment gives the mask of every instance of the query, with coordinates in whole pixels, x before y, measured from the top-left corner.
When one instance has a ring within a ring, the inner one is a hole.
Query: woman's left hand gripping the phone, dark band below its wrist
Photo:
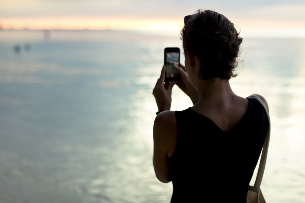
[[[157,80],[156,86],[152,91],[153,96],[155,96],[159,111],[170,110],[171,92],[174,84],[177,83],[177,81],[173,81],[171,83],[164,83],[164,79],[165,65],[163,65],[160,78]]]

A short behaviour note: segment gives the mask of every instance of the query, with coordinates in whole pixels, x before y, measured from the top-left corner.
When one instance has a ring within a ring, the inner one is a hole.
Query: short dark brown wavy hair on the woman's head
[[[225,16],[211,10],[198,10],[181,30],[183,48],[196,54],[201,62],[198,77],[230,79],[237,76],[239,45],[242,38]]]

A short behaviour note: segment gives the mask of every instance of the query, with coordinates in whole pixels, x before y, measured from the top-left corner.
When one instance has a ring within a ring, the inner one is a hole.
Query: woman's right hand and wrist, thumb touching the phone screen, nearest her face
[[[193,86],[192,82],[188,78],[188,73],[186,72],[185,66],[180,64],[180,67],[175,65],[176,71],[181,75],[179,82],[177,82],[178,87],[188,95],[193,104],[198,102],[198,93],[196,87]]]

